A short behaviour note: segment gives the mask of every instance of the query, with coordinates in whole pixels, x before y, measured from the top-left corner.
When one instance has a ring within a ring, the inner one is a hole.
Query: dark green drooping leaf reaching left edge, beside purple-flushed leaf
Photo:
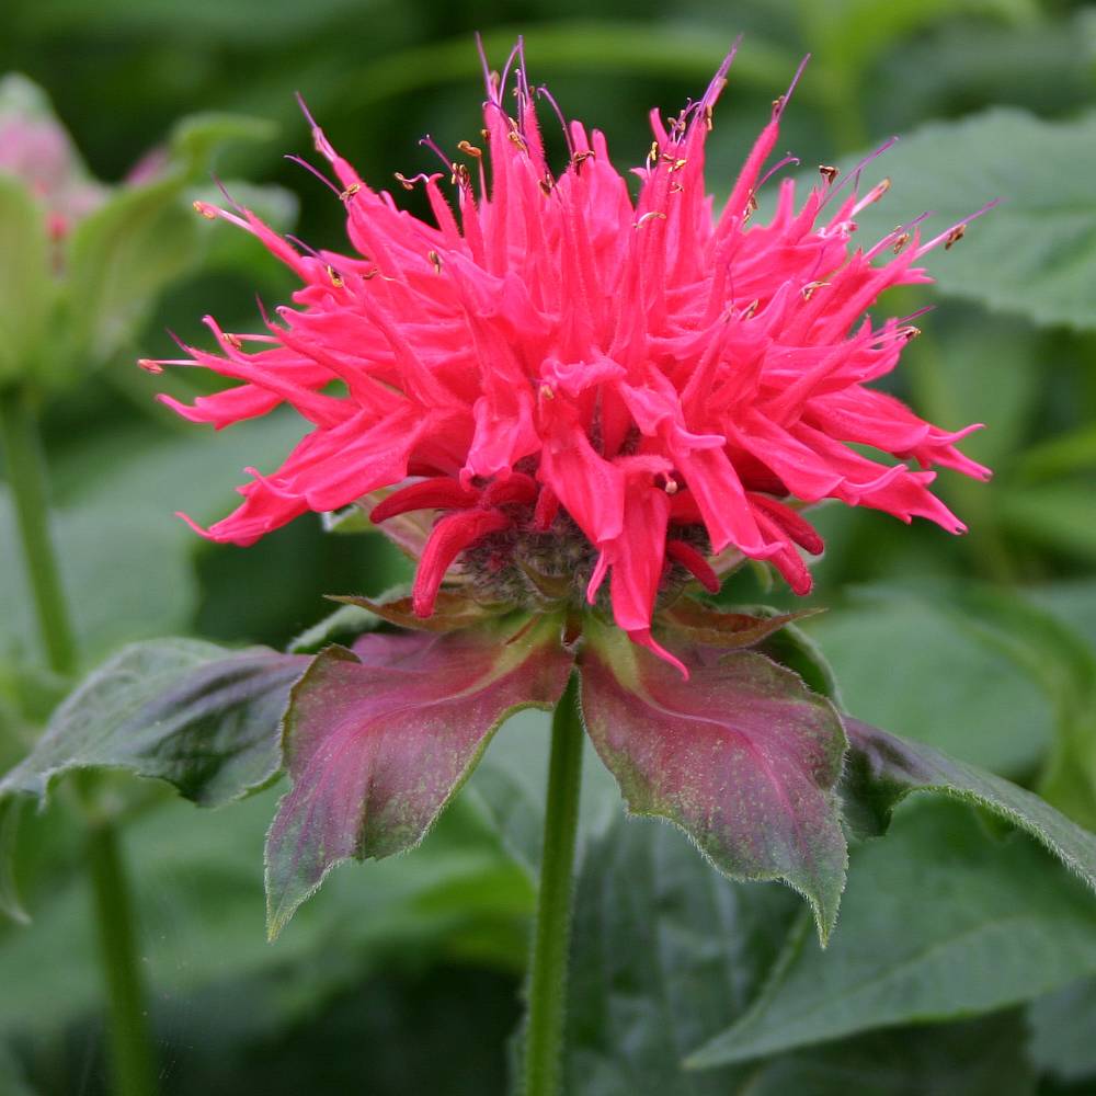
[[[118,768],[215,807],[281,767],[278,721],[308,659],[162,639],[134,643],[57,709],[30,756],[0,780],[0,801],[44,799],[66,773]]]

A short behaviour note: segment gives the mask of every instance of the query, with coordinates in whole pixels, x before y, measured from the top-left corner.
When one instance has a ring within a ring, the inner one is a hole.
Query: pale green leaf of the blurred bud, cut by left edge
[[[0,383],[37,359],[53,298],[46,210],[0,172]]]

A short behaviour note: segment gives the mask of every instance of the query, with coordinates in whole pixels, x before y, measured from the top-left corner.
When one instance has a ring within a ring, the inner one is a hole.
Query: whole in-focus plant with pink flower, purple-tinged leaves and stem
[[[80,727],[75,752],[78,694],[3,786],[41,795],[75,764],[121,764],[212,803],[284,768],[266,848],[274,935],[341,860],[416,845],[511,713],[552,709],[530,1096],[559,1086],[583,733],[630,811],[678,825],[735,879],[789,883],[823,941],[847,837],[881,833],[913,790],[987,807],[1096,884],[1096,840],[1041,800],[808,687],[824,678],[797,614],[713,597],[746,561],[807,594],[803,553],[823,549],[807,511],[823,499],[961,533],[935,469],[989,476],[957,448],[977,426],[943,430],[870,387],[917,332],[867,309],[929,281],[923,260],[967,221],[925,239],[918,218],[861,247],[856,218],[888,186],[860,185],[874,157],[822,167],[806,194],[770,182],[790,162],[770,163],[790,88],[716,208],[705,146],[730,62],[678,114],[652,112],[638,186],[600,133],[530,85],[518,47],[501,75],[484,64],[482,140],[452,156],[427,142],[443,170],[398,176],[425,192],[432,222],[362,180],[310,117],[345,252],[196,203],[258,237],[300,288],[258,332],[207,317],[210,349],[142,364],[236,381],[191,404],[161,397],[194,422],[289,404],[306,432],[275,471],[248,469],[235,513],[195,528],[248,546],[309,512],[359,511],[413,557],[414,583],[336,598],[372,627],[315,657],[124,653],[84,686],[144,674],[121,718]],[[561,162],[545,117],[562,127]]]

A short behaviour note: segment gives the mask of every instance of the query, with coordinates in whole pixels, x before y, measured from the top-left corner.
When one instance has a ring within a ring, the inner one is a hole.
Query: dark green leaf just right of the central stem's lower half
[[[801,912],[783,887],[712,871],[670,826],[616,813],[578,880],[564,1089],[739,1093],[742,1071],[689,1073],[682,1059],[742,1015]]]

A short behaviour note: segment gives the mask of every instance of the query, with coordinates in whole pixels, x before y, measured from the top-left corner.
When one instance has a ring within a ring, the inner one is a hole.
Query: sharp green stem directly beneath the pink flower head
[[[579,678],[572,675],[551,724],[540,892],[529,969],[525,1096],[557,1096],[560,1091],[582,746]]]

